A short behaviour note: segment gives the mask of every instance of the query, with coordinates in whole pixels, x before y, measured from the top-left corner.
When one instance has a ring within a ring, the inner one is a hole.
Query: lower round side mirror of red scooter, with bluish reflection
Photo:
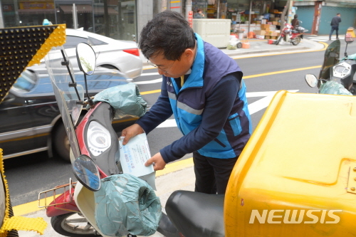
[[[100,174],[93,159],[82,154],[72,163],[72,169],[75,178],[85,188],[90,191],[98,191],[100,189]]]

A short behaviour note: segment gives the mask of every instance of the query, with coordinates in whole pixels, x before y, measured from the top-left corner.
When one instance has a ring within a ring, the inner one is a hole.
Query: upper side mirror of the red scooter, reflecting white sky
[[[95,70],[95,51],[88,43],[78,43],[76,48],[79,69],[86,75],[93,75]]]

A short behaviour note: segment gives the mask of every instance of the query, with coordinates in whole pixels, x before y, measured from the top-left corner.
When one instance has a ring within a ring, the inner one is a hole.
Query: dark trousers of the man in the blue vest
[[[225,194],[237,158],[218,159],[193,152],[195,191],[205,194]]]

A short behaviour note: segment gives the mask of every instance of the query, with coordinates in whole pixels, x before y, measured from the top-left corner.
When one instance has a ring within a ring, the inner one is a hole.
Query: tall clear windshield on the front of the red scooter
[[[73,67],[68,60],[63,46],[52,48],[46,55],[45,62],[48,74],[51,78],[58,108],[62,115],[63,124],[66,127],[70,148],[73,151],[74,157],[78,157],[80,155],[80,149],[75,136],[74,126],[76,122],[78,122],[80,112],[83,108],[83,86],[75,84]]]

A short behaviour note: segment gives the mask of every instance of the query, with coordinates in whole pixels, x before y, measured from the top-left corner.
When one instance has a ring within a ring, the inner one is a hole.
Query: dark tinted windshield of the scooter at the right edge
[[[326,48],[324,55],[323,67],[320,70],[320,79],[330,78],[330,67],[339,63],[340,58],[340,40],[336,40],[330,43],[328,48]]]

